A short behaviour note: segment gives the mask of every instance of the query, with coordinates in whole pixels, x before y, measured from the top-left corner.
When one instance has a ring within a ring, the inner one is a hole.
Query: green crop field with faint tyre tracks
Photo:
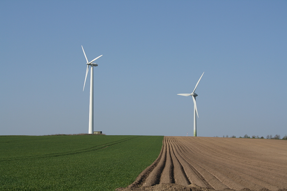
[[[0,136],[0,190],[115,190],[158,157],[163,136]]]

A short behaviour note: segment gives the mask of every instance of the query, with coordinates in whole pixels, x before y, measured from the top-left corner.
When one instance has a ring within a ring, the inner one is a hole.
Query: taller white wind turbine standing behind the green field
[[[83,91],[85,89],[85,84],[86,84],[86,79],[87,79],[87,75],[88,75],[88,72],[89,72],[89,66],[91,66],[91,82],[90,82],[90,113],[89,113],[89,134],[93,134],[93,131],[94,131],[94,85],[93,85],[93,82],[94,82],[94,79],[93,79],[93,66],[98,66],[98,64],[96,63],[93,63],[95,60],[97,60],[98,58],[100,58],[101,56],[98,56],[97,58],[95,58],[94,60],[92,60],[91,62],[88,61],[88,58],[85,54],[85,51],[84,51],[84,48],[82,46],[82,49],[83,49],[83,52],[84,52],[84,55],[85,55],[85,58],[87,60],[87,71],[86,71],[86,77],[85,77],[85,82],[84,82],[84,88],[83,88]]]

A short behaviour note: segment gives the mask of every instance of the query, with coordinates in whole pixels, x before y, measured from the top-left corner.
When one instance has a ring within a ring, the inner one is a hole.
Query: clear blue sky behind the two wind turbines
[[[1,1],[0,135],[287,134],[287,1]]]

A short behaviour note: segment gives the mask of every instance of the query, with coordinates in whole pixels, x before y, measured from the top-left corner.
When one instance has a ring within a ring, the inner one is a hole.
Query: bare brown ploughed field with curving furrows
[[[164,137],[158,159],[127,188],[116,190],[286,189],[286,140]]]

